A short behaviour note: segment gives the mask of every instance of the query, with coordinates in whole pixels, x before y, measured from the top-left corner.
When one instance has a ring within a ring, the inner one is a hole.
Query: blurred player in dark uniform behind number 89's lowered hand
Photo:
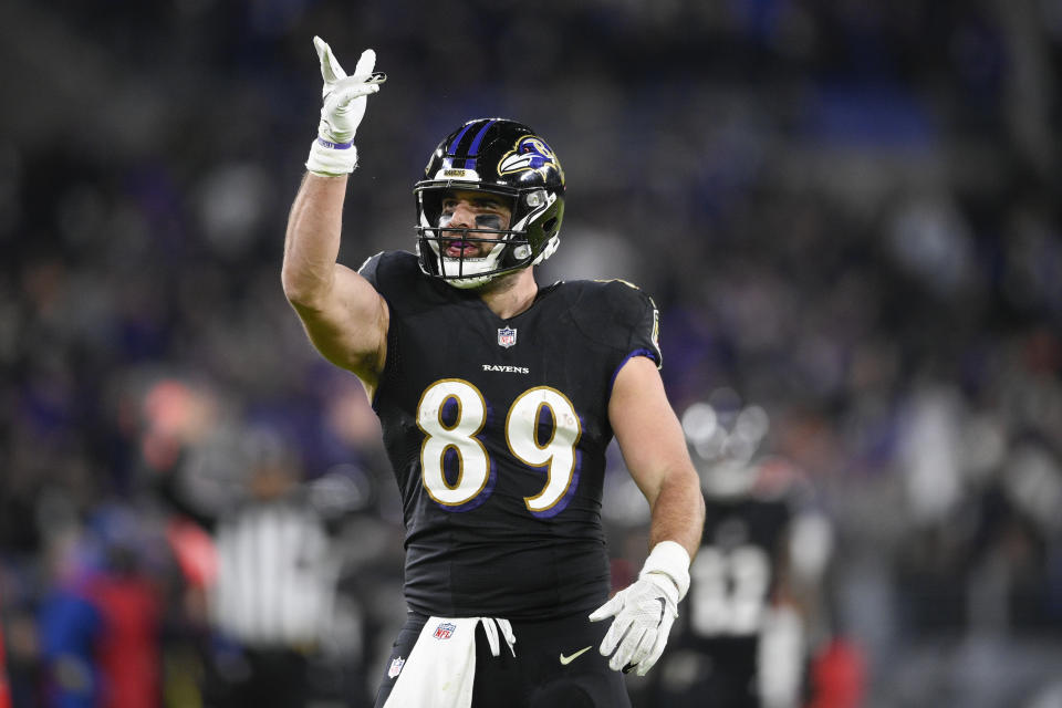
[[[799,708],[823,617],[829,521],[789,461],[758,456],[769,420],[729,389],[687,408],[706,522],[688,612],[650,683],[668,708]]]

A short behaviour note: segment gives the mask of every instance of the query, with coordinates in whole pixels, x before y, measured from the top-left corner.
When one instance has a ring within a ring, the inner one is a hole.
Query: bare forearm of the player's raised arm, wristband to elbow
[[[312,304],[332,287],[340,253],[346,175],[308,173],[288,217],[281,280],[293,303]]]

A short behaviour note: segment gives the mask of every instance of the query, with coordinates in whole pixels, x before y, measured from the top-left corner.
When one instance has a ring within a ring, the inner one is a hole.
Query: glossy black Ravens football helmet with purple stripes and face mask
[[[509,227],[440,228],[448,190],[501,197],[512,210]],[[564,170],[545,140],[522,123],[469,121],[439,143],[413,192],[420,269],[456,288],[477,288],[502,273],[541,263],[560,241]],[[446,256],[446,244],[452,241],[494,246],[483,257]]]

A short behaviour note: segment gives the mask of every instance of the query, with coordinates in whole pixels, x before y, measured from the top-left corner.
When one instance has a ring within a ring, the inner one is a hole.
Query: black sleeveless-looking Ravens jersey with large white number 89
[[[409,607],[513,620],[596,607],[608,398],[629,357],[660,362],[653,301],[622,281],[561,282],[502,320],[412,253],[360,272],[391,310],[373,408],[402,493]]]

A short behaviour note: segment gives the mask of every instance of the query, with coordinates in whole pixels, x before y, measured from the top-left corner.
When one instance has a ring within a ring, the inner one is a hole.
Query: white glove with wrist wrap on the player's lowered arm
[[[638,676],[645,676],[664,653],[667,634],[678,617],[678,603],[688,590],[686,549],[675,541],[657,543],[638,580],[590,615],[591,622],[615,616],[600,647],[602,655],[612,656],[608,667],[635,668]]]

